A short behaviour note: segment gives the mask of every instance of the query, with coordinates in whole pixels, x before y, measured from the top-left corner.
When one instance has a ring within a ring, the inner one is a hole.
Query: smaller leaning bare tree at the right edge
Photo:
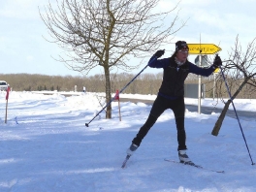
[[[256,90],[256,45],[255,39],[248,44],[246,50],[243,52],[239,43],[239,37],[236,39],[235,48],[229,54],[229,60],[227,60],[225,67],[223,68],[223,74],[227,80],[227,84],[230,89],[232,100],[234,100],[240,93],[243,87],[249,85],[250,91]],[[219,76],[217,80],[218,94],[220,97],[229,97],[222,77]],[[222,99],[223,100],[223,99]],[[226,112],[232,102],[229,99],[225,103],[224,109],[218,117],[217,122],[211,132],[212,135],[217,136],[225,118]]]

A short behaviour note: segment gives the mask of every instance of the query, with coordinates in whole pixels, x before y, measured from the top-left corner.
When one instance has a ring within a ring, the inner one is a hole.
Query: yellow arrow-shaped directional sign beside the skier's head
[[[214,44],[187,44],[189,54],[214,54],[221,50],[221,48]]]

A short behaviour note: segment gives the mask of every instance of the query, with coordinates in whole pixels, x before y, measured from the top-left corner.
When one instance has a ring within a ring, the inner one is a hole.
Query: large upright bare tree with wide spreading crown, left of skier
[[[176,10],[156,13],[160,0],[60,0],[48,3],[40,15],[48,27],[51,43],[66,50],[59,61],[82,73],[96,66],[104,69],[106,99],[111,101],[110,71],[113,67],[132,70],[128,55],[144,57],[149,51],[170,43],[185,23],[176,25],[177,14],[165,25],[166,16]],[[43,13],[44,12],[44,13]],[[111,105],[106,117],[111,118]]]

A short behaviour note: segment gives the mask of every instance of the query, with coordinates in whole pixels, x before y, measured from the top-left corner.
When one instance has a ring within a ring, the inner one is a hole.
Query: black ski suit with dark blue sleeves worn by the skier
[[[148,66],[151,68],[163,68],[163,81],[149,116],[132,143],[140,146],[145,135],[154,125],[157,118],[165,110],[171,109],[176,117],[177,150],[187,149],[184,128],[184,80],[189,73],[208,77],[214,71],[214,67],[210,66],[208,69],[200,68],[189,61],[186,61],[183,65],[178,67],[173,57],[152,59],[155,59],[155,57],[151,57]]]

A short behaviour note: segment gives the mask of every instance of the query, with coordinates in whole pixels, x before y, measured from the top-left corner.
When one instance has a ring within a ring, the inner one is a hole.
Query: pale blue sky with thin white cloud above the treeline
[[[159,9],[173,8],[177,2],[161,0]],[[38,8],[44,5],[48,5],[48,0],[0,1],[0,74],[80,76],[80,73],[67,69],[63,63],[52,58],[57,58],[63,50],[43,38],[48,35],[48,30],[39,16]],[[222,48],[219,53],[222,59],[227,58],[227,52],[234,47],[237,35],[245,49],[256,37],[255,8],[256,0],[181,0],[173,16],[179,11],[178,17],[180,21],[186,20],[186,26],[176,33],[170,46],[165,47],[167,52],[163,57],[171,55],[177,40],[200,43],[200,36],[201,43]],[[189,56],[192,62],[194,58],[195,55]],[[139,73],[145,64],[131,73]],[[154,71],[146,69],[145,73]],[[103,70],[96,68],[89,75],[99,73],[103,73]]]

